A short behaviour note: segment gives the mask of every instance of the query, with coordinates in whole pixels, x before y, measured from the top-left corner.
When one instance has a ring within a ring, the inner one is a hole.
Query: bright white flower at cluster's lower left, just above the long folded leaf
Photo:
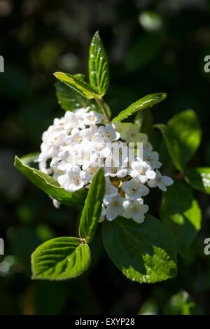
[[[57,177],[61,187],[64,187],[66,192],[75,192],[84,186],[84,180],[81,177],[82,170],[79,166],[73,166],[68,173]]]

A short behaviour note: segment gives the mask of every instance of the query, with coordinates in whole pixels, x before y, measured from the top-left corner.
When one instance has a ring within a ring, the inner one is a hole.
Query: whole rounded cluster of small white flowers
[[[148,206],[143,197],[149,193],[149,187],[167,191],[173,180],[161,175],[159,154],[153,151],[148,136],[139,133],[137,126],[132,123],[103,126],[100,125],[102,114],[89,110],[68,111],[61,119],[54,120],[43,133],[39,168],[52,175],[66,192],[76,192],[88,189],[99,166],[104,166],[106,192],[99,221],[105,216],[107,220],[114,220],[122,215],[138,223],[144,222]],[[120,150],[129,142],[143,143],[143,157],[138,156],[135,147],[136,156],[132,162],[123,156]],[[55,199],[53,204],[59,207]]]

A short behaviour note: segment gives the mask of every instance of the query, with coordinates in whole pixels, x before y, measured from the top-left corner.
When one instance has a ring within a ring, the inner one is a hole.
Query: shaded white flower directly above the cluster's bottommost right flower
[[[128,182],[123,182],[122,189],[125,192],[125,196],[130,200],[141,199],[142,196],[146,196],[149,193],[148,187],[135,178]]]

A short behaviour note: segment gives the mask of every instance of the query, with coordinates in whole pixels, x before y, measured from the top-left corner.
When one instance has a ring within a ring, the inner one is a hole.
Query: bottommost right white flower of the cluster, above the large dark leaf
[[[143,199],[135,201],[126,200],[123,203],[125,211],[123,217],[132,218],[137,223],[144,222],[144,214],[148,212],[148,206],[144,205]]]

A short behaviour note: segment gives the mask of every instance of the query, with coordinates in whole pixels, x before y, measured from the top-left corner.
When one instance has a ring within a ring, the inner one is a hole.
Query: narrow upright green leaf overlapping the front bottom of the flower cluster
[[[85,207],[80,219],[80,237],[90,243],[102,213],[102,202],[105,192],[104,168],[100,168],[92,179],[90,189],[85,200]]]

